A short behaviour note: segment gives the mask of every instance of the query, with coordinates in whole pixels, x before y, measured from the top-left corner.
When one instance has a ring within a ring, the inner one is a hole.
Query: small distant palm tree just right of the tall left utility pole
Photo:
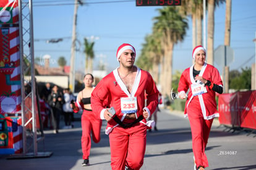
[[[85,74],[92,73],[93,70],[93,59],[94,59],[94,51],[93,46],[94,42],[90,43],[87,38],[84,38],[85,50]]]

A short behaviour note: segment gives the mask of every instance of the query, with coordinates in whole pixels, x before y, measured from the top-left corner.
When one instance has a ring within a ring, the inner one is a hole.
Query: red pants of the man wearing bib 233
[[[117,126],[109,134],[112,170],[140,169],[146,150],[147,126],[137,123],[127,129]]]

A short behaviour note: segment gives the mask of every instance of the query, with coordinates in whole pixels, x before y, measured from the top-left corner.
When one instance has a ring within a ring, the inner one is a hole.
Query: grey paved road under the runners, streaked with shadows
[[[59,134],[45,130],[45,145],[38,143],[40,153],[53,152],[48,158],[6,159],[0,156],[0,169],[111,169],[108,136],[103,122],[101,142],[92,143],[90,166],[82,167],[81,126],[61,129]],[[227,132],[214,121],[206,154],[211,170],[256,169],[255,134]],[[45,150],[43,150],[43,148]],[[162,109],[158,113],[158,131],[148,132],[147,149],[142,170],[194,169],[192,142],[188,119],[182,113]]]

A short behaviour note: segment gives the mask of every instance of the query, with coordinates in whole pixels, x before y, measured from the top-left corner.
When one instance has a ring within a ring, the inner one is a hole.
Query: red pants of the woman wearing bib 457
[[[192,133],[192,148],[197,167],[208,167],[208,159],[205,155],[205,148],[207,147],[213,119],[205,120],[203,118],[202,109],[200,108],[200,104],[195,102],[196,100],[198,99],[192,100],[187,108]]]

